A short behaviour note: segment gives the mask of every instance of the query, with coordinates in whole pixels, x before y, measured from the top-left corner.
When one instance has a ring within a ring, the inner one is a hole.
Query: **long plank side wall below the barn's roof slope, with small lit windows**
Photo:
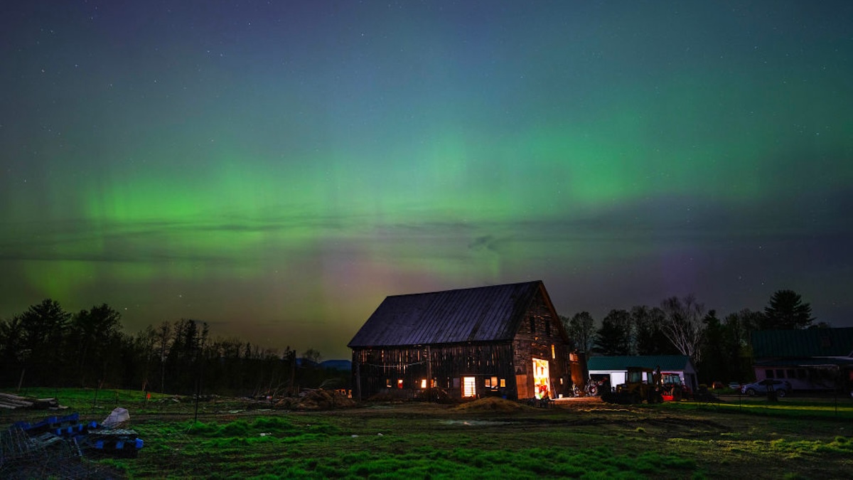
[[[515,399],[512,362],[509,342],[356,348],[352,352],[352,385],[354,395],[360,393],[362,399],[379,394],[416,398],[424,395],[422,380],[429,376],[436,388],[459,398],[461,378],[474,377],[477,397]]]

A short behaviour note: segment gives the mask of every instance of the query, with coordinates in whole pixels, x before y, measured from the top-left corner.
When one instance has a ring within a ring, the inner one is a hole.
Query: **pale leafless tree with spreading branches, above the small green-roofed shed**
[[[693,365],[699,363],[699,347],[705,334],[705,324],[702,322],[705,305],[696,301],[696,297],[690,294],[683,299],[677,296],[667,298],[661,302],[660,308],[665,313],[661,331],[682,355],[693,360]]]

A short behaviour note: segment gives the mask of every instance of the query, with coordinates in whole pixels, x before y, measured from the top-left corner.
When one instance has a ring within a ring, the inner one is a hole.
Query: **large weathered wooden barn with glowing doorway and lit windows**
[[[388,296],[348,347],[357,398],[433,387],[515,400],[572,389],[569,339],[541,281]]]

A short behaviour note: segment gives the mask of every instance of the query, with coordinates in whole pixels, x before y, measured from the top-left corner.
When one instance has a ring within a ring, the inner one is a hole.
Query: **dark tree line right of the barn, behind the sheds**
[[[687,355],[707,384],[753,378],[753,331],[828,326],[815,323],[811,306],[793,290],[775,291],[763,311],[744,308],[722,319],[693,295],[666,298],[658,307],[613,309],[598,324],[589,312],[560,319],[572,348],[588,355]]]

